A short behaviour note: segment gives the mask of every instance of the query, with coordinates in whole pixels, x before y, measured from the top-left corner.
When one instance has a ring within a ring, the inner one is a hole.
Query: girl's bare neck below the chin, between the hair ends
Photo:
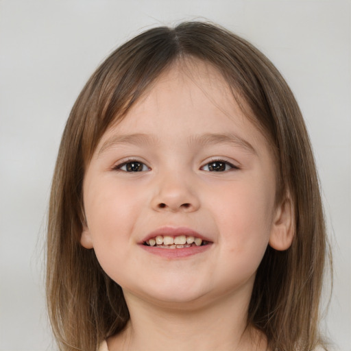
[[[108,339],[114,350],[266,350],[265,337],[247,326],[247,294],[202,304],[150,303],[125,292],[130,321]],[[201,300],[201,299],[200,299]]]

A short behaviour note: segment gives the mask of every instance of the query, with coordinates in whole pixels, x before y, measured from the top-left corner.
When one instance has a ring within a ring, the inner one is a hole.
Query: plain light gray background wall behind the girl
[[[300,103],[334,253],[325,324],[339,350],[351,350],[350,1],[0,0],[1,351],[53,348],[43,288],[46,211],[77,94],[97,64],[141,29],[202,17],[261,49]]]

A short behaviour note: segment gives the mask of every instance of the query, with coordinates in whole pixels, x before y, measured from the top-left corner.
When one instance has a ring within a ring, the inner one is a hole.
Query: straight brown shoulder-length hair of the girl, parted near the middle
[[[149,29],[114,51],[80,93],[62,136],[53,176],[47,239],[47,304],[60,350],[97,350],[128,322],[121,287],[80,245],[84,169],[106,129],[175,60],[197,58],[223,75],[250,108],[277,162],[277,202],[294,206],[295,237],[279,252],[267,247],[258,267],[248,323],[270,350],[313,350],[326,230],[311,144],[298,104],[273,64],[242,38],[216,25],[189,22]]]

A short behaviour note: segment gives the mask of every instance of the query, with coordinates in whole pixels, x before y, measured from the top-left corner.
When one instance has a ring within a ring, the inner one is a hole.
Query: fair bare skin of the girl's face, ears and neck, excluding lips
[[[221,75],[199,61],[182,66],[158,77],[106,131],[85,174],[81,243],[121,285],[131,315],[108,347],[266,350],[265,337],[246,328],[247,308],[267,245],[286,250],[291,244],[289,197],[275,205],[267,140]],[[130,134],[146,137],[126,141]],[[204,143],[204,134],[235,138]],[[120,166],[131,159],[143,171]],[[229,163],[210,171],[213,160]],[[164,226],[186,226],[212,245],[178,259],[143,250],[143,238]]]

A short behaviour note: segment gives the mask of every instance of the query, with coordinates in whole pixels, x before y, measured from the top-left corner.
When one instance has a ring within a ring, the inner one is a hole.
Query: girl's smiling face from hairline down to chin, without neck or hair
[[[275,178],[267,141],[217,71],[195,62],[189,77],[174,66],[101,138],[84,178],[82,245],[126,298],[250,298],[282,231]],[[143,245],[155,230],[210,243]]]

